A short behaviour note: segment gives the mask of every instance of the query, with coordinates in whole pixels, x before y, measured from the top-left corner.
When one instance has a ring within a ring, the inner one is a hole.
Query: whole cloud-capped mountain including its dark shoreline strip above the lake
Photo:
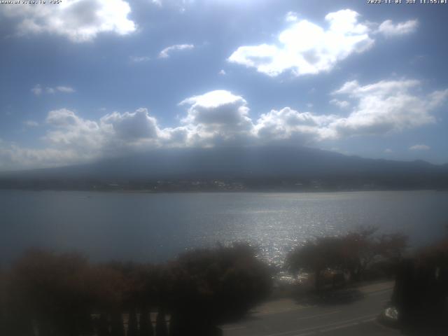
[[[13,187],[11,181],[36,186],[38,181],[137,185],[161,180],[245,181],[260,187],[263,183],[309,185],[318,180],[320,185],[340,188],[447,188],[448,165],[373,160],[304,147],[172,148],[85,165],[3,173],[0,187]]]

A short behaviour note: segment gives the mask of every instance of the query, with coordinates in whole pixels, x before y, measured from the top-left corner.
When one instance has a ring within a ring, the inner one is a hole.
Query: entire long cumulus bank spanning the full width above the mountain
[[[42,138],[45,149],[0,142],[0,159],[4,161],[0,165],[28,167],[34,162],[33,167],[48,167],[148,148],[273,142],[313,145],[332,139],[402,132],[435,123],[433,111],[448,99],[448,90],[422,93],[418,90],[421,86],[419,80],[409,79],[381,80],[367,85],[356,80],[346,82],[332,92],[336,97],[346,97],[342,102],[350,101],[351,111],[344,116],[297,111],[286,106],[253,117],[244,97],[215,90],[180,102],[179,106],[186,109],[185,116],[180,118],[179,125],[165,128],[144,108],[107,113],[98,120],[82,118],[69,109],[57,109],[45,119],[47,130]],[[428,148],[420,144],[409,149]]]

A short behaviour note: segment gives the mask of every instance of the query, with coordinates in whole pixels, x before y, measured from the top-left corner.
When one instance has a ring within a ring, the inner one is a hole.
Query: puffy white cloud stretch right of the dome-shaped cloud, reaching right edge
[[[254,124],[259,139],[297,139],[301,144],[321,140],[384,135],[435,123],[432,112],[448,99],[448,90],[416,94],[419,80],[383,80],[360,85],[347,82],[332,94],[351,99],[348,116],[316,115],[289,107],[272,110]],[[335,99],[332,104],[349,106]]]

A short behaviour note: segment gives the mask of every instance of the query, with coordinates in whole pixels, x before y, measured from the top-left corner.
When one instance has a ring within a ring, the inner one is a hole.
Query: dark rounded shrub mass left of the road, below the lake
[[[246,245],[191,251],[162,265],[92,265],[76,253],[30,250],[0,274],[0,335],[37,328],[42,336],[124,336],[123,313],[127,335],[213,335],[270,288],[271,274]],[[158,311],[155,325],[150,311]]]

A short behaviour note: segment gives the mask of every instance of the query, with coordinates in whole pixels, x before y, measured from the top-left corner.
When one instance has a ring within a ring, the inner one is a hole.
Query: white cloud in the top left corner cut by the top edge
[[[54,34],[73,42],[92,41],[100,33],[127,35],[136,25],[127,16],[131,8],[123,0],[64,0],[57,5],[1,6],[1,12],[17,18],[18,34]]]

